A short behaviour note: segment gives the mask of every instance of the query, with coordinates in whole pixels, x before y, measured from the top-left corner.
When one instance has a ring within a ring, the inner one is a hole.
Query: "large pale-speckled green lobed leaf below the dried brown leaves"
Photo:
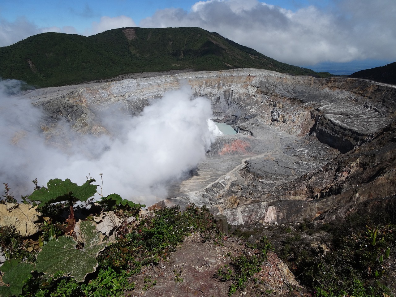
[[[88,273],[94,272],[98,266],[96,257],[107,242],[100,240],[96,224],[91,221],[82,222],[80,231],[84,240],[83,249],[77,249],[77,241],[70,236],[48,242],[37,255],[37,271],[50,276],[63,271],[65,276],[70,274],[77,282],[83,282]]]

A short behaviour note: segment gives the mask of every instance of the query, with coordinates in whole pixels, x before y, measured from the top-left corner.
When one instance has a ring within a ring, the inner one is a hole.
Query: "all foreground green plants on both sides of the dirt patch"
[[[133,291],[136,276],[167,261],[190,232],[203,232],[205,240],[221,244],[224,234],[206,207],[143,211],[144,205],[117,194],[92,204],[97,188],[93,182],[88,179],[78,186],[54,179],[39,187],[34,181],[35,190],[23,197],[23,204],[16,203],[5,185],[0,203],[0,296],[124,296]],[[268,252],[275,250],[314,296],[392,296],[395,214],[394,207],[378,208],[333,224],[306,221],[278,227],[276,235],[268,235],[277,244],[263,235],[249,243],[255,230],[237,229],[235,236],[247,241],[244,251],[228,255],[228,264],[213,278],[229,282],[229,296],[239,294],[247,284],[258,282]],[[12,217],[17,219],[7,221]],[[175,282],[183,282],[180,274],[175,270]],[[145,277],[143,290],[155,283]]]

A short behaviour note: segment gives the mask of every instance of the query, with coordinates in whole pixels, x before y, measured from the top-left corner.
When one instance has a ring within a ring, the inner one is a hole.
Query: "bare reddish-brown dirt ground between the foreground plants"
[[[205,241],[205,235],[194,233],[185,239],[168,261],[150,266],[132,281],[135,290],[128,296],[139,297],[222,297],[228,296],[232,280],[221,282],[215,273],[230,263],[230,257],[253,253],[239,238],[223,237]],[[295,281],[287,265],[268,253],[261,272],[248,281],[245,289],[234,295],[243,296],[310,296]],[[148,281],[150,279],[150,281]]]

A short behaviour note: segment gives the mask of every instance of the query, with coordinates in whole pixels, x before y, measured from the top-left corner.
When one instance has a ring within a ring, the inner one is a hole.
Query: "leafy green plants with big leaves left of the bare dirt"
[[[175,251],[189,232],[216,230],[208,210],[194,205],[183,213],[179,207],[141,211],[144,205],[111,194],[102,197],[100,207],[86,209],[96,192],[92,182],[77,186],[55,179],[47,187],[36,185],[25,202],[36,204],[30,211],[42,211],[34,214],[37,232],[21,236],[15,226],[0,227],[6,259],[1,296],[124,296],[134,288],[133,276]],[[2,202],[11,211],[23,205],[14,203],[7,185]],[[85,204],[73,209],[75,202]],[[66,220],[65,208],[72,209]],[[81,215],[84,220],[76,222]]]

